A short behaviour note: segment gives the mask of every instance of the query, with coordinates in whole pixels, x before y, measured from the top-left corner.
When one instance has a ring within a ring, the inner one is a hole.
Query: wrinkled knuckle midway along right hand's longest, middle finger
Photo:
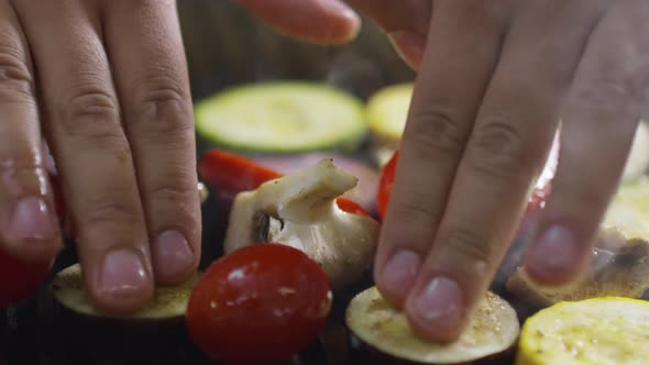
[[[534,162],[520,131],[501,119],[487,119],[475,125],[466,154],[473,170],[494,177],[528,172]]]

